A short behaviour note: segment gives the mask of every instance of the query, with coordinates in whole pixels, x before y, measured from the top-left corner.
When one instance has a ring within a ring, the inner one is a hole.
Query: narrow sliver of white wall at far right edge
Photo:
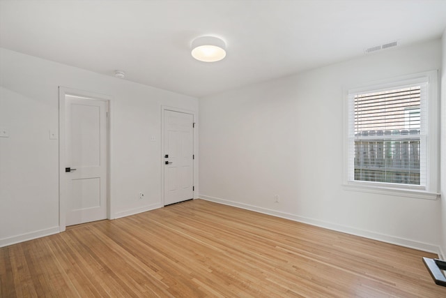
[[[440,137],[440,189],[441,189],[441,217],[442,221],[442,242],[441,258],[446,258],[446,29],[443,32],[442,57],[443,67],[441,72],[441,137]]]

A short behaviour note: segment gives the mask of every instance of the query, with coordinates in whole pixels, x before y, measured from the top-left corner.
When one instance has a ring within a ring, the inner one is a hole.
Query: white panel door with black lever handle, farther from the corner
[[[65,97],[66,225],[107,218],[107,101]]]

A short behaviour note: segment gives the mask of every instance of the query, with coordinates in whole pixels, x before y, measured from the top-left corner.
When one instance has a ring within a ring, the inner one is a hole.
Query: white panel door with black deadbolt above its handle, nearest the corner
[[[194,198],[194,115],[164,111],[164,205]]]

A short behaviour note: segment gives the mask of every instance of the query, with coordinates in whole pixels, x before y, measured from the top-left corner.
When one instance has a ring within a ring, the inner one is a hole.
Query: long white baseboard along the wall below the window
[[[369,239],[374,239],[374,240],[378,240],[378,241],[383,241],[383,242],[387,242],[390,244],[396,244],[399,246],[404,246],[407,248],[414,248],[420,251],[426,251],[429,253],[437,253],[438,255],[443,255],[443,253],[440,253],[440,247],[433,245],[433,244],[426,244],[420,241],[414,241],[414,240],[410,240],[410,239],[404,239],[404,238],[400,238],[400,237],[394,237],[394,236],[390,236],[390,235],[386,235],[386,234],[380,234],[377,232],[371,232],[371,231],[367,231],[367,230],[360,230],[357,228],[352,228],[352,227],[348,227],[345,225],[337,225],[334,223],[328,223],[325,221],[319,221],[318,219],[314,219],[314,218],[306,218],[303,216],[298,216],[295,214],[289,214],[286,212],[281,212],[281,211],[276,211],[276,210],[272,210],[272,209],[266,209],[266,208],[262,208],[262,207],[256,207],[250,204],[243,204],[243,203],[239,203],[239,202],[233,202],[231,200],[224,200],[224,199],[220,199],[220,198],[215,198],[215,197],[211,197],[208,195],[199,195],[199,198],[203,199],[203,200],[208,200],[211,202],[216,202],[216,203],[220,203],[220,204],[226,204],[229,206],[233,206],[233,207],[239,207],[242,209],[247,209],[250,211],[256,211],[259,213],[263,213],[263,214],[268,214],[268,215],[272,215],[272,216],[277,216],[277,217],[281,217],[281,218],[286,218],[289,219],[291,221],[298,221],[300,223],[307,223],[309,225],[316,225],[317,227],[321,227],[321,228],[325,228],[328,230],[334,230],[337,232],[344,232],[347,234],[353,234],[355,236],[360,236],[360,237],[365,237],[365,238],[369,238]]]

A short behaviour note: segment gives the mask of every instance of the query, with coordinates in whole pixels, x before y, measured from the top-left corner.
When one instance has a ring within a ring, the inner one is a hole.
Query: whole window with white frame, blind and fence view
[[[348,90],[347,184],[437,190],[435,83],[433,71]]]

